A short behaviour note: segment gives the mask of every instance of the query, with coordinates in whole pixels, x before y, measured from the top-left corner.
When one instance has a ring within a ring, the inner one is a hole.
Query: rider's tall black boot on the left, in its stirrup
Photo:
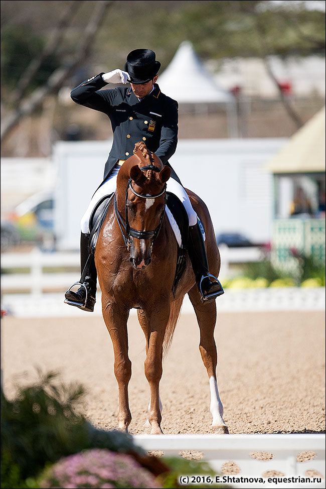
[[[96,282],[97,272],[94,263],[94,257],[89,257],[89,234],[81,233],[80,235],[80,268],[81,275],[84,276],[82,282],[77,282],[74,285],[80,285],[77,292],[73,292],[72,285],[65,293],[65,303],[70,306],[76,306],[84,311],[93,312],[96,302]],[[87,266],[87,269],[85,267]],[[81,278],[82,278],[81,277]]]

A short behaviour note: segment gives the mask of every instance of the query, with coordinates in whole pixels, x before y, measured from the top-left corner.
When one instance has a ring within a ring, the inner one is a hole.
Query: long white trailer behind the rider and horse
[[[270,240],[273,180],[265,164],[287,138],[181,140],[170,163],[183,185],[207,204],[216,233]],[[58,250],[77,250],[80,219],[102,181],[112,141],[58,142],[55,231]]]

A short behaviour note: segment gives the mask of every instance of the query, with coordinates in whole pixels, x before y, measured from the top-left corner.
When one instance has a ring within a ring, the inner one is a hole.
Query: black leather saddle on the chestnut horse
[[[89,237],[89,259],[91,259],[91,257],[93,257],[95,254],[97,239],[113,196],[114,196],[113,193],[108,196],[105,196],[95,207],[91,215],[90,237]],[[189,219],[185,207],[183,206],[182,202],[176,195],[172,194],[171,192],[167,192],[166,203],[168,209],[173,215],[175,222],[177,223],[177,226],[181,234],[181,243],[180,241],[178,242],[178,258],[177,258],[176,274],[172,286],[172,292],[175,297],[178,283],[186,268],[186,250],[187,250],[187,243],[188,243]]]

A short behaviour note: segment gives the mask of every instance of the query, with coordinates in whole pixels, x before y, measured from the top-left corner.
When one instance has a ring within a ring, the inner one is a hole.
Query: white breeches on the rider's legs
[[[93,212],[95,206],[98,204],[98,202],[100,200],[102,200],[103,197],[115,192],[116,178],[117,178],[119,170],[120,170],[120,167],[118,165],[116,165],[113,168],[110,176],[105,180],[105,182],[102,183],[102,185],[94,193],[94,195],[93,195],[93,197],[89,203],[89,206],[87,207],[86,212],[81,219],[81,223],[80,223],[81,232],[87,233],[87,234],[90,232],[89,219],[91,218],[91,215],[92,215],[92,212]],[[188,194],[187,194],[186,190],[184,189],[184,187],[182,185],[180,185],[180,183],[178,183],[173,178],[170,178],[167,181],[167,191],[175,194],[181,200],[181,202],[183,203],[183,205],[186,209],[186,212],[188,214],[189,225],[194,226],[197,223],[197,214],[191,205]]]

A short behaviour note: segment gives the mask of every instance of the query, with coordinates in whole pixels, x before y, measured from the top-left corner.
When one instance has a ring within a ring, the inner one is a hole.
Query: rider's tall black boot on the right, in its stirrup
[[[198,221],[195,226],[189,227],[189,245],[188,253],[202,296],[202,302],[213,300],[224,294],[220,282],[214,275],[209,273],[204,238]],[[212,282],[211,278],[215,282]]]

